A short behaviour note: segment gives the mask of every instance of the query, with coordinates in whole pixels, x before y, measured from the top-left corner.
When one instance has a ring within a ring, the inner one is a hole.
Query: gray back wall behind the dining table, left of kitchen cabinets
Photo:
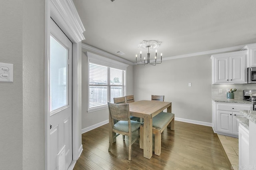
[[[150,100],[151,95],[164,95],[164,101],[172,102],[176,118],[212,123],[211,63],[210,55],[200,55],[156,66],[135,65],[134,96]]]

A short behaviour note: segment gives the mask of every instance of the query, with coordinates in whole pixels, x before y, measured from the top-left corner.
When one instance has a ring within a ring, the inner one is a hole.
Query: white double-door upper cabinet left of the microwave
[[[211,59],[212,84],[247,83],[247,50],[216,54]]]

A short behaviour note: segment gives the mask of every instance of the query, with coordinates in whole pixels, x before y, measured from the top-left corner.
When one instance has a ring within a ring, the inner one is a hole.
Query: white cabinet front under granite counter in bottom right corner
[[[249,168],[249,130],[239,124],[239,166],[241,169]]]

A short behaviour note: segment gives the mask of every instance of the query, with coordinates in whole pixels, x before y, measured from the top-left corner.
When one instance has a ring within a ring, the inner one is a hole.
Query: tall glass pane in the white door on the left
[[[68,105],[68,49],[50,36],[50,112]]]

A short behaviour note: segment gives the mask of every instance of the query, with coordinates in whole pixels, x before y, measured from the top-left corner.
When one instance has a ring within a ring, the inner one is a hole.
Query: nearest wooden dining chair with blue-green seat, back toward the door
[[[112,141],[119,134],[126,135],[129,137],[129,158],[132,158],[132,144],[140,138],[140,125],[141,123],[137,121],[130,120],[130,110],[129,104],[114,104],[108,103],[108,110],[110,114],[110,123],[111,123],[111,138],[109,142],[108,151],[111,150]],[[118,122],[114,123],[114,120]],[[132,140],[132,133],[138,131],[138,136]],[[115,135],[115,133],[117,133]]]

